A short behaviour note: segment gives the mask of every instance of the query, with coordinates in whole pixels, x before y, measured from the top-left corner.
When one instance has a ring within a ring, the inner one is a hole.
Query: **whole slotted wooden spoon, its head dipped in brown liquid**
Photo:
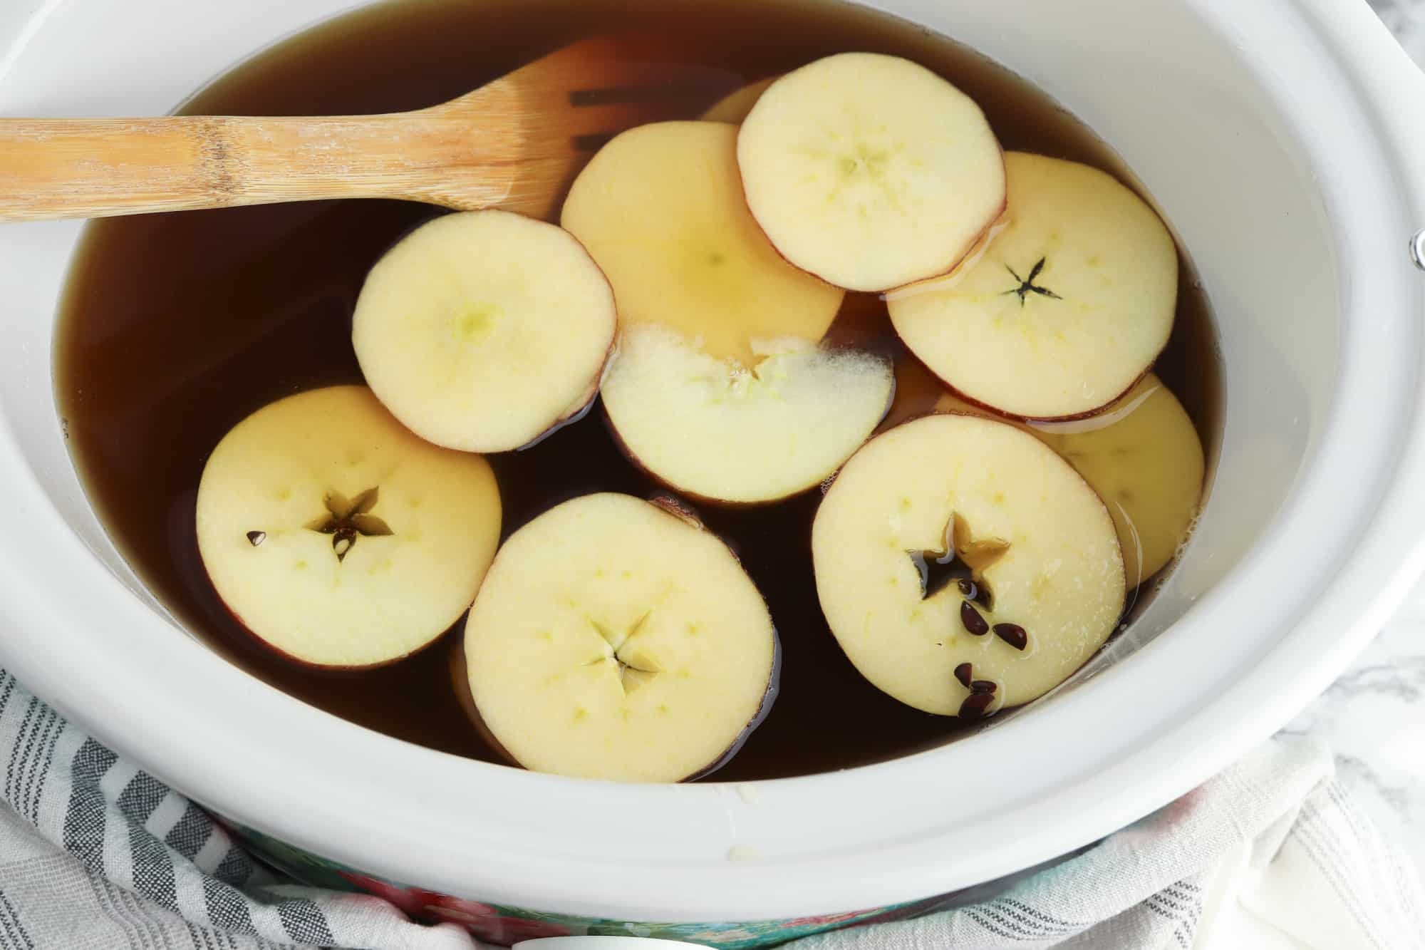
[[[610,136],[695,114],[737,84],[661,37],[611,34],[412,113],[0,118],[0,221],[321,198],[547,217]]]

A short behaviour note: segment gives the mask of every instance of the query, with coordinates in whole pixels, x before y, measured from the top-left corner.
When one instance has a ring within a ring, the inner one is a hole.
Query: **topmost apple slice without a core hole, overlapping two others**
[[[846,290],[949,271],[1005,207],[979,106],[895,56],[841,53],[778,78],[742,121],[737,163],[782,257]]]

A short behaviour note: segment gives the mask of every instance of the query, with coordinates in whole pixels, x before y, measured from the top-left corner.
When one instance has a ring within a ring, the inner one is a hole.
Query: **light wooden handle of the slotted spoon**
[[[349,118],[0,118],[0,221],[94,218],[319,198],[500,201],[469,118],[430,108]],[[487,180],[487,187],[486,187]],[[475,200],[470,200],[473,185]]]

